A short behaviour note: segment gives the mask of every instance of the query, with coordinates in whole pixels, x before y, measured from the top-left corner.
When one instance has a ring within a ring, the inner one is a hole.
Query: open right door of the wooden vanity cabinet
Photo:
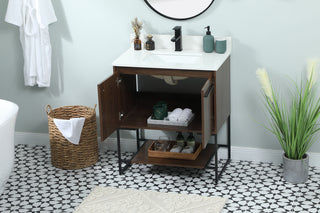
[[[207,147],[212,131],[213,119],[213,83],[209,79],[201,89],[201,116],[202,116],[202,149]]]

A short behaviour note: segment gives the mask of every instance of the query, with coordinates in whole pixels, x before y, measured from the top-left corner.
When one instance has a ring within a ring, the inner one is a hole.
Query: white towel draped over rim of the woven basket
[[[70,120],[53,119],[61,134],[71,143],[78,145],[85,118],[71,118]]]

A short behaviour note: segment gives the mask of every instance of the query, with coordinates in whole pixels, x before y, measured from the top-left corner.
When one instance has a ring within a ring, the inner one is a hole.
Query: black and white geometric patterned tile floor
[[[319,168],[310,168],[307,183],[293,185],[282,179],[281,165],[231,161],[215,185],[212,169],[133,165],[119,175],[112,151],[100,153],[97,164],[79,170],[53,167],[50,150],[43,146],[17,145],[15,151],[0,212],[73,212],[95,186],[226,197],[223,212],[320,212]]]

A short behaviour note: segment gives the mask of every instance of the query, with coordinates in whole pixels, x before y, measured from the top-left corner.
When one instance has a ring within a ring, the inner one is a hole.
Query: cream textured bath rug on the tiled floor
[[[227,198],[96,187],[74,213],[218,213]]]

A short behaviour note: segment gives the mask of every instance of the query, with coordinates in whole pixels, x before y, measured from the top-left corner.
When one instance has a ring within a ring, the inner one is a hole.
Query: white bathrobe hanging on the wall
[[[9,0],[5,21],[20,27],[25,85],[50,87],[49,24],[57,21],[51,0]]]

